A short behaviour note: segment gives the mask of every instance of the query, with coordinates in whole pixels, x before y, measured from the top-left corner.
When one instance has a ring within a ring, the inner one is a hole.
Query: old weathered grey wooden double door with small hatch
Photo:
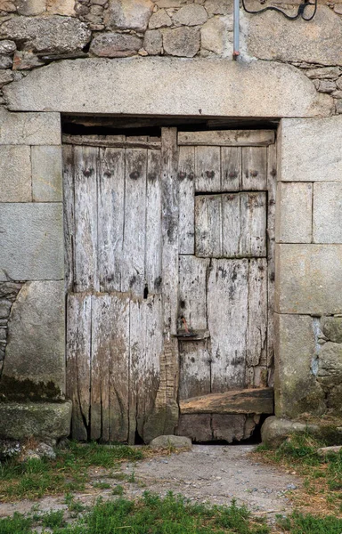
[[[161,132],[64,136],[80,440],[243,439],[260,409],[203,413],[189,399],[272,381],[273,132]]]

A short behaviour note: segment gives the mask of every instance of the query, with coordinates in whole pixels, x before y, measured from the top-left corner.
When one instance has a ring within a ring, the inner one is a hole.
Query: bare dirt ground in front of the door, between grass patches
[[[190,451],[170,455],[155,454],[141,462],[124,463],[126,476],[110,478],[104,469],[91,472],[91,482],[82,494],[76,494],[85,506],[95,500],[113,498],[112,490],[120,484],[126,498],[139,497],[151,490],[160,496],[172,490],[193,502],[225,505],[237,500],[254,514],[273,519],[275,514],[289,514],[289,492],[296,491],[301,481],[294,474],[286,474],[273,465],[259,464],[250,455],[252,445],[194,445]],[[98,490],[94,484],[110,483],[110,489]],[[0,517],[14,512],[28,513],[36,505],[41,511],[66,508],[63,496],[23,500],[13,504],[0,503]]]

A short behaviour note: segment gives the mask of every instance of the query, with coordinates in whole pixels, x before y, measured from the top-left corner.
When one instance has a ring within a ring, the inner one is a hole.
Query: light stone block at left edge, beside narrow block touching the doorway
[[[1,202],[30,202],[31,160],[29,147],[0,145]]]

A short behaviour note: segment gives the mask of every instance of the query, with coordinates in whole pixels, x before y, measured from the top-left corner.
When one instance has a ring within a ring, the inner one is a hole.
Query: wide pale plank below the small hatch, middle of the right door
[[[212,260],[208,279],[211,391],[243,388],[248,327],[248,260]]]

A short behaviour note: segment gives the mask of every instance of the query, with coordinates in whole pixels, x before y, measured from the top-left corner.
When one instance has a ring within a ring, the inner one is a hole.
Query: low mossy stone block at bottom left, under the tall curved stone
[[[0,438],[59,440],[70,433],[72,404],[67,402],[1,402]]]

